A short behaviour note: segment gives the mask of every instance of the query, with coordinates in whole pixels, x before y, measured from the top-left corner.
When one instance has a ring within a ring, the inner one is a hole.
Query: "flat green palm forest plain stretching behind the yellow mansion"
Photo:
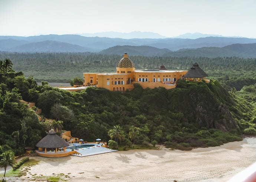
[[[128,53],[129,54],[129,53]],[[122,55],[89,53],[10,53],[0,52],[0,59],[9,58],[16,71],[26,77],[32,75],[37,82],[66,82],[85,72],[116,72],[116,65]],[[256,83],[256,58],[238,57],[146,57],[129,56],[136,69],[187,70],[197,62],[210,79],[218,80],[227,90],[236,90]],[[63,74],[65,73],[65,74]]]

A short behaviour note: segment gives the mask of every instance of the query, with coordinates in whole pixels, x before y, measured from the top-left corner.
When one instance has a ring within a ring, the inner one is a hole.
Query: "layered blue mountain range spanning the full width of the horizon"
[[[9,52],[101,52],[102,54],[175,56],[254,56],[256,39],[204,37],[197,39],[122,39],[81,35],[0,36],[0,51]],[[235,45],[232,44],[248,44]],[[232,45],[229,48],[228,45]],[[125,47],[124,47],[125,46]],[[110,49],[109,49],[110,48]],[[106,49],[106,50],[105,50]],[[129,53],[129,51],[131,51]],[[174,52],[173,52],[174,51]],[[242,51],[242,52],[241,52]]]

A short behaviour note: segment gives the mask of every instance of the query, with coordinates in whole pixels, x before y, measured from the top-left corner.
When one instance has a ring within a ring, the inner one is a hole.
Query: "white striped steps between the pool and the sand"
[[[91,147],[91,148],[83,148],[83,149],[76,150],[76,152],[78,152],[79,154],[72,154],[72,155],[85,157],[89,155],[104,154],[104,153],[115,152],[115,151],[117,150],[112,150],[105,147]]]

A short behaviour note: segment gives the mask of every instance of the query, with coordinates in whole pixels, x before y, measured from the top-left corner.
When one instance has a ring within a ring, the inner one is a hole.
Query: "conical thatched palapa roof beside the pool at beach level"
[[[42,140],[37,142],[36,147],[61,148],[68,147],[69,143],[59,137],[54,131],[50,131]]]

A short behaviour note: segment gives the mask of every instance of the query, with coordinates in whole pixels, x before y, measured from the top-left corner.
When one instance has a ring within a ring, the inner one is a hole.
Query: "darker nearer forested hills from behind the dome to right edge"
[[[64,52],[64,51],[63,51]],[[256,58],[256,43],[254,44],[232,44],[224,47],[201,47],[197,49],[180,49],[177,51],[170,51],[169,49],[155,48],[151,46],[115,46],[105,49],[100,54],[115,54],[121,55],[124,52],[129,52],[129,55],[141,56],[197,56],[197,57],[223,57],[223,56],[237,56],[242,58]]]

